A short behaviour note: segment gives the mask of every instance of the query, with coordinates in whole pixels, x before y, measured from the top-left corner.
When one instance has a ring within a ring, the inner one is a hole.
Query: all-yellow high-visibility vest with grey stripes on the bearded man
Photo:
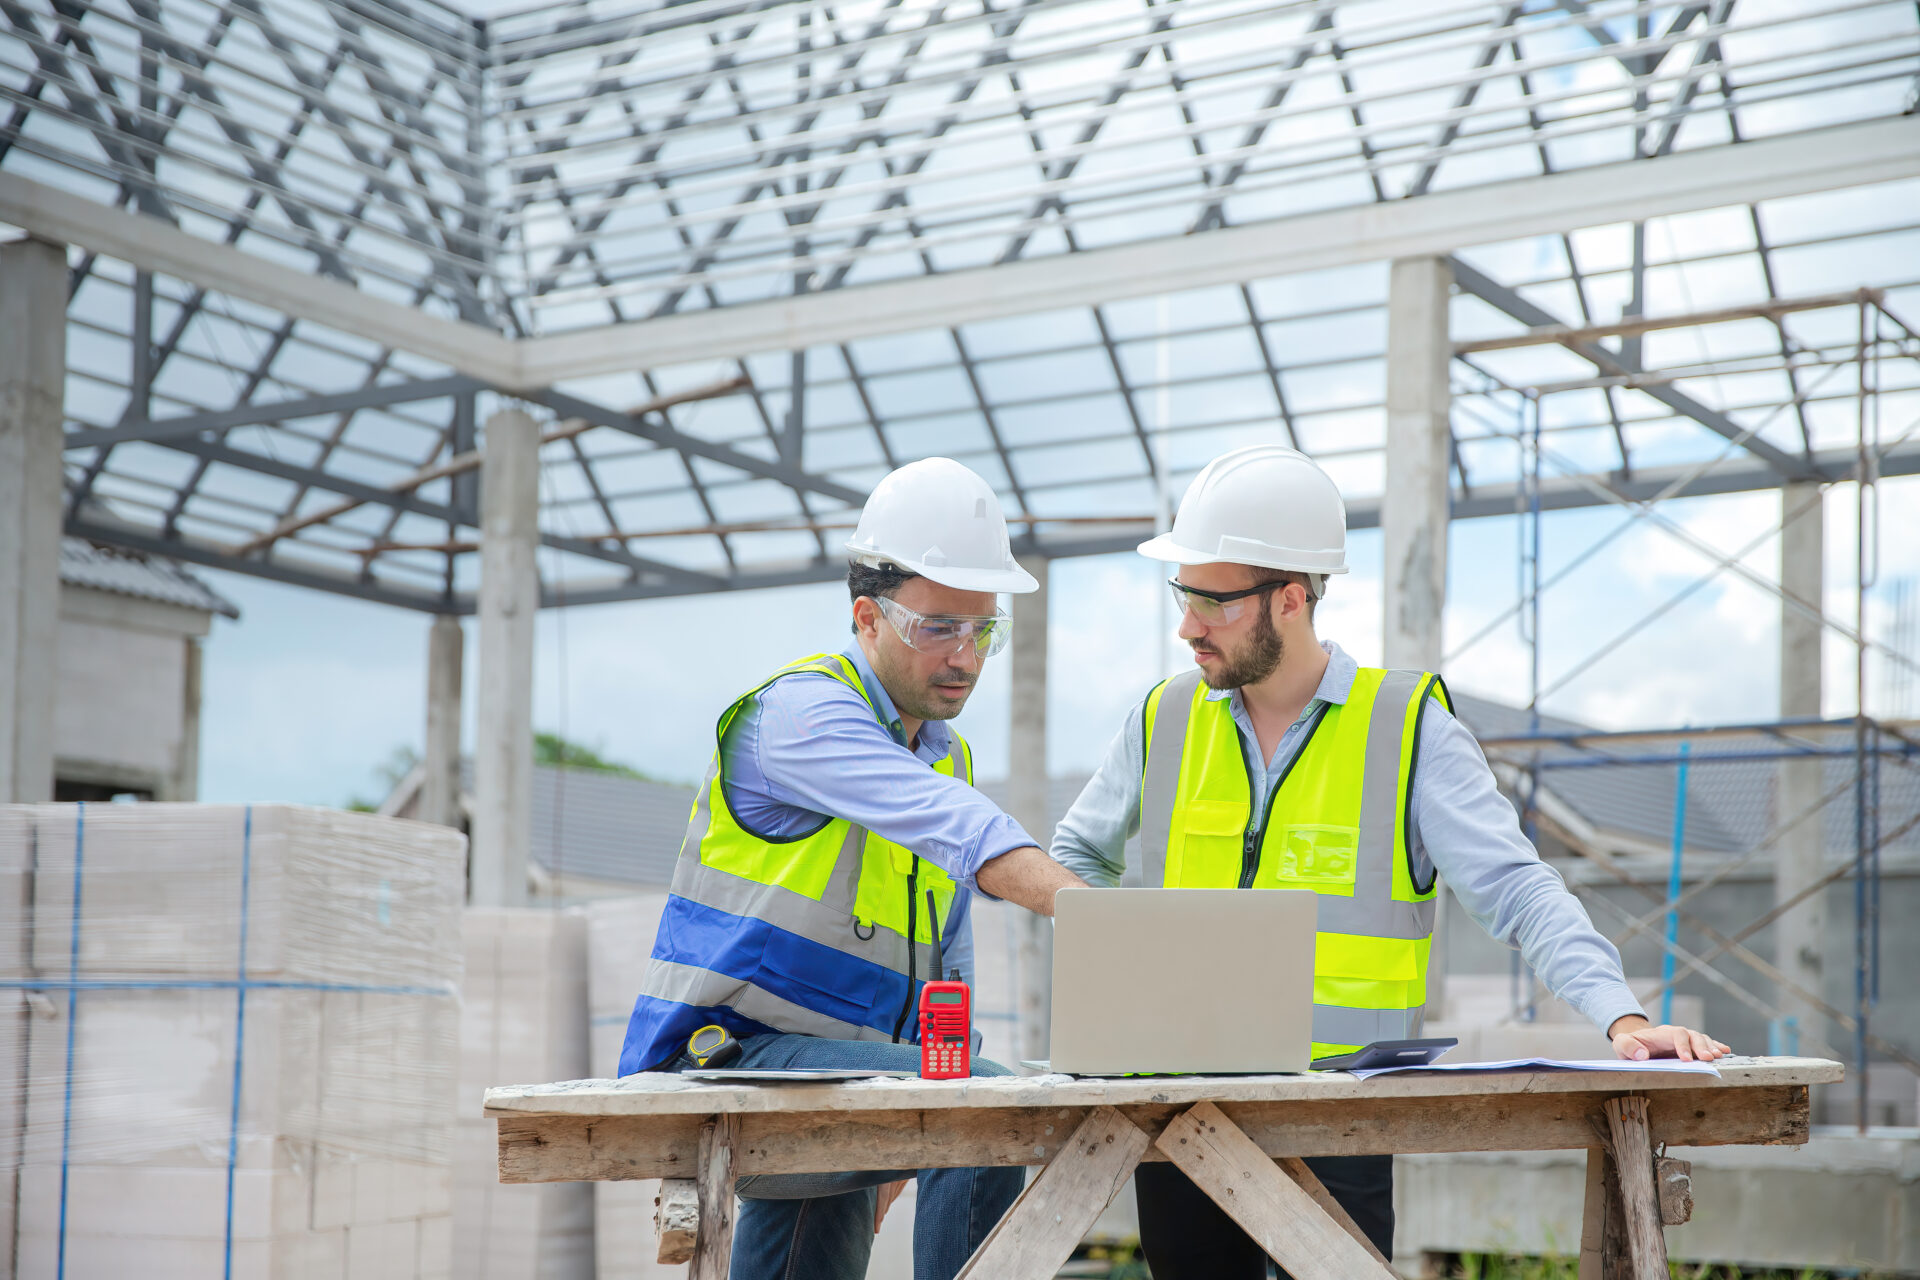
[[[1263,814],[1252,812],[1233,708],[1206,693],[1200,672],[1187,672],[1146,699],[1144,883],[1313,890],[1313,1055],[1417,1038],[1434,875],[1415,881],[1407,794],[1421,710],[1428,697],[1452,710],[1446,685],[1427,672],[1361,668],[1344,706],[1313,714]]]

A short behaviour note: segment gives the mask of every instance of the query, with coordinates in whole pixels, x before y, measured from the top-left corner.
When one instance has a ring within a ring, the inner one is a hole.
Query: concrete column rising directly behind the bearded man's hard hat
[[[1386,666],[1438,670],[1446,606],[1448,288],[1444,257],[1402,257],[1386,294]]]

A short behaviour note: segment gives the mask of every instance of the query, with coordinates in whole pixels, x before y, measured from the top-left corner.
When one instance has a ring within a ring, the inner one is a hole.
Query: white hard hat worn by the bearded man
[[[1332,476],[1298,449],[1235,449],[1194,476],[1173,528],[1140,543],[1140,555],[1175,564],[1344,574],[1346,503]]]

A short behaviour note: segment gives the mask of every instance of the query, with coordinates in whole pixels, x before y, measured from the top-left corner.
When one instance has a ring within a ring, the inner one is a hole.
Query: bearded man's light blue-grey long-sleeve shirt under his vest
[[[1323,702],[1344,704],[1354,691],[1359,664],[1338,645],[1323,643],[1327,674],[1313,700],[1300,712],[1273,760],[1260,760],[1260,737],[1240,693],[1208,691],[1229,699],[1240,727],[1240,748],[1254,777],[1254,812],[1300,752],[1302,733]],[[1054,831],[1052,856],[1089,885],[1117,885],[1127,869],[1127,839],[1140,825],[1140,768],[1144,700],[1127,716],[1100,770],[1081,791]],[[1517,946],[1555,996],[1605,1031],[1615,1019],[1642,1013],[1620,975],[1620,954],[1601,936],[1578,898],[1567,892],[1559,871],[1521,835],[1519,816],[1500,794],[1494,771],[1473,739],[1444,706],[1427,702],[1421,712],[1419,762],[1413,771],[1413,867],[1427,881],[1434,867],[1467,913],[1490,935]]]

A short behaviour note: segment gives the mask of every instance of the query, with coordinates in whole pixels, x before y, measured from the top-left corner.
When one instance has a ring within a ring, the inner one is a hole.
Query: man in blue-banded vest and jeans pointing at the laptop
[[[973,756],[947,725],[1012,633],[996,593],[1037,587],[993,489],[948,459],[902,466],[847,551],[854,643],[780,668],[720,716],[620,1075],[705,1065],[714,1046],[737,1046],[730,1067],[918,1073],[920,986],[972,981],[972,890],[1050,915],[1081,883],[972,787]],[[1006,1069],[973,1057],[972,1073]],[[733,1280],[864,1276],[912,1176],[916,1280],[950,1280],[1023,1182],[1020,1169],[741,1178]]]

